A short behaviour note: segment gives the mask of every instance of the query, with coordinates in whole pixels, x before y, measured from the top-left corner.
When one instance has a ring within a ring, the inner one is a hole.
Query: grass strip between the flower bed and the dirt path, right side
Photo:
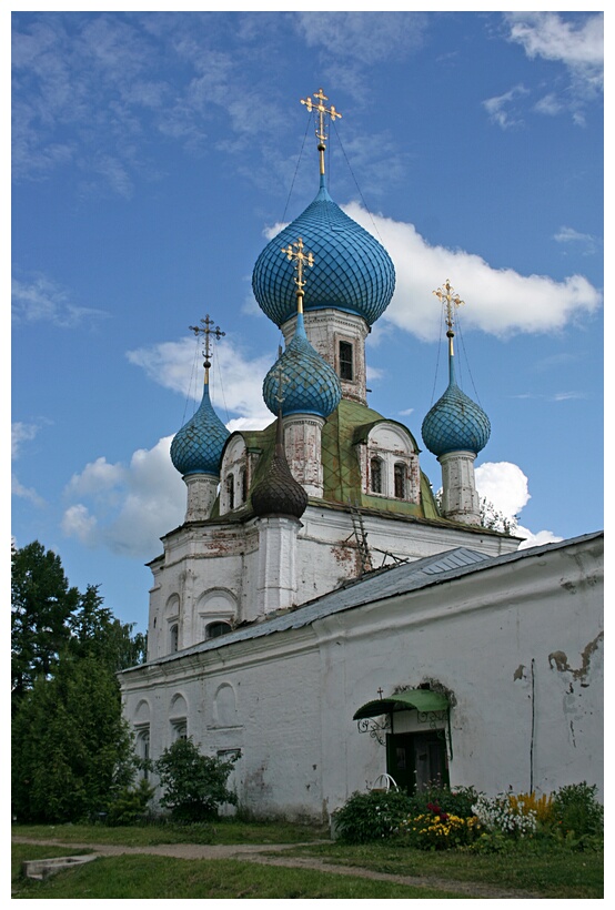
[[[344,845],[339,841],[284,851],[284,856],[317,857],[330,863],[359,866],[397,876],[430,876],[475,881],[500,888],[534,891],[544,898],[602,898],[603,852],[574,852],[555,846],[521,842],[502,853],[470,853],[460,850],[429,852],[392,842]]]

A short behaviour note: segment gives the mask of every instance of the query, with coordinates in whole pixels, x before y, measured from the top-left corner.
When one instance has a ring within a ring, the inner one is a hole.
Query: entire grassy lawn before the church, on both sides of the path
[[[329,831],[282,822],[220,819],[208,826],[13,826],[16,837],[54,839],[62,847],[13,843],[16,898],[467,898],[454,881],[480,882],[538,893],[543,898],[603,897],[602,852],[575,852],[556,846],[521,842],[501,853],[447,850],[425,852],[395,843],[344,845]],[[320,842],[319,842],[320,841]],[[147,847],[163,843],[290,843],[285,857],[314,857],[327,863],[375,872],[451,881],[451,890],[335,876],[310,869],[268,867],[240,860],[184,860],[153,856],[105,857],[59,872],[46,882],[20,878],[21,861],[87,852],[71,845],[114,843]],[[303,846],[299,846],[299,845]]]

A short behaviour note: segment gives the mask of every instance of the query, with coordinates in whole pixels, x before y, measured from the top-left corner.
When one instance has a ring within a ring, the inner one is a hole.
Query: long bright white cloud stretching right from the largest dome
[[[413,224],[372,215],[356,202],[343,209],[383,243],[395,265],[395,293],[383,322],[423,341],[438,338],[442,318],[440,304],[425,289],[440,287],[448,276],[454,276],[455,290],[471,304],[463,307],[464,326],[498,337],[553,333],[601,306],[601,293],[583,275],[557,282],[547,275],[492,269],[465,250],[431,246]]]

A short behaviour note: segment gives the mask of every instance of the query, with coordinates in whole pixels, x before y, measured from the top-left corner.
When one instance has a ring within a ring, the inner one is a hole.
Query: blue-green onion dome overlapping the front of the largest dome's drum
[[[342,400],[342,386],[337,374],[308,341],[302,313],[296,315],[293,340],[263,382],[263,398],[272,414],[278,414],[280,397],[284,417],[289,414],[316,414],[320,417],[329,417]]]

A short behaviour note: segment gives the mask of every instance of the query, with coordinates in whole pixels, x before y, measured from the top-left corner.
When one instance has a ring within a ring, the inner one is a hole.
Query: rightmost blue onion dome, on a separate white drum
[[[473,452],[477,455],[488,442],[490,418],[457,386],[452,360],[450,373],[446,392],[423,421],[423,442],[436,457],[448,452]]]

